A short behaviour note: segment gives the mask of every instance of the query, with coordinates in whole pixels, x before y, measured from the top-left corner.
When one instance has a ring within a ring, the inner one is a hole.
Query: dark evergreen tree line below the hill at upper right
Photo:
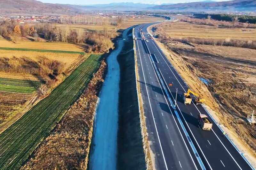
[[[236,20],[238,20],[241,23],[256,24],[256,16],[249,16],[249,15],[195,13],[193,16],[196,18],[207,18],[208,16],[211,16],[212,19],[215,19],[218,21],[228,21],[228,22],[232,22],[236,18]]]

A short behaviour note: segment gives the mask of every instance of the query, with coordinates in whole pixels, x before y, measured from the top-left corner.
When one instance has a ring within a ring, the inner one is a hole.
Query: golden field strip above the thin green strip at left
[[[4,48],[29,48],[29,49],[46,49],[46,50],[61,50],[61,51],[83,51],[76,44],[62,42],[34,42],[34,41],[7,41],[0,38],[0,47]]]

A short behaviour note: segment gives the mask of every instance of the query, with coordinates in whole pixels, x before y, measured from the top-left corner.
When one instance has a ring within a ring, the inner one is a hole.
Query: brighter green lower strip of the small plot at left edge
[[[0,84],[0,91],[2,92],[18,92],[18,93],[28,93],[31,94],[36,89],[34,87],[19,86],[19,85],[3,85]]]

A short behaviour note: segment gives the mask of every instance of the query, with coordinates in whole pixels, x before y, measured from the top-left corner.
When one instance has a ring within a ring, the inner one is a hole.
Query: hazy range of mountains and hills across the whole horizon
[[[0,0],[0,14],[76,15],[85,11],[256,11],[256,0],[195,3],[110,3],[94,5],[49,4],[35,0]]]

